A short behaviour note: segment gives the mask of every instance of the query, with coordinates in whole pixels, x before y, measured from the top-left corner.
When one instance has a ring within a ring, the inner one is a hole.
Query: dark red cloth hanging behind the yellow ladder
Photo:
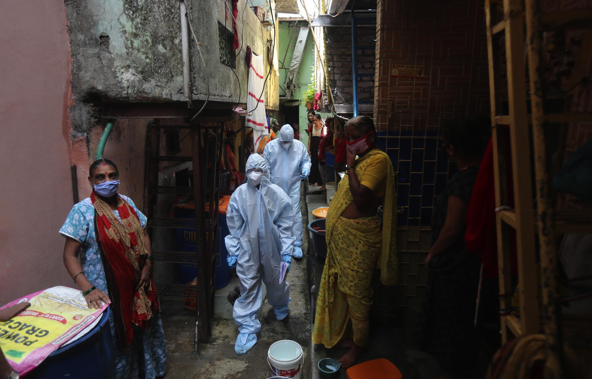
[[[501,126],[500,126],[501,129]],[[507,132],[507,130],[506,130]],[[507,173],[507,198],[508,206],[514,205],[513,181],[510,157],[509,133],[506,133],[506,173]],[[494,179],[493,140],[490,140],[485,150],[479,174],[475,181],[475,187],[471,195],[471,201],[466,210],[465,246],[470,252],[478,254],[483,264],[485,277],[498,276],[497,266],[497,227],[496,227],[496,187]],[[511,229],[510,261],[511,275],[516,276],[516,231]]]

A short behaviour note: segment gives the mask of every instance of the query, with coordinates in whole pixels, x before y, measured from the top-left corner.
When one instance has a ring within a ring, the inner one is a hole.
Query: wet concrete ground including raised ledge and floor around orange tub
[[[272,376],[267,362],[269,346],[281,339],[291,339],[300,343],[304,351],[302,378],[320,378],[317,363],[329,356],[339,358],[343,349],[326,349],[322,345],[311,343],[311,297],[313,284],[318,282],[323,272],[323,259],[315,259],[313,249],[308,249],[307,230],[309,220],[313,220],[312,211],[327,206],[326,194],[317,188],[303,186],[301,207],[303,210],[304,258],[293,261],[288,281],[292,301],[290,314],[282,322],[275,320],[274,311],[263,301],[259,320],[261,330],[258,342],[246,354],[236,355],[234,342],[237,326],[232,319],[232,306],[226,296],[237,283],[237,278],[215,293],[215,307],[212,339],[209,344],[202,344],[200,352],[194,352],[194,313],[184,310],[182,300],[162,300],[162,319],[168,349],[168,371],[166,378],[185,379],[265,379]],[[316,299],[316,297],[315,297]],[[440,368],[433,359],[422,352],[408,349],[403,343],[404,330],[397,327],[372,326],[371,343],[368,351],[357,363],[370,359],[387,358],[393,362],[406,379],[437,378]],[[340,370],[339,378],[346,378],[346,370]]]

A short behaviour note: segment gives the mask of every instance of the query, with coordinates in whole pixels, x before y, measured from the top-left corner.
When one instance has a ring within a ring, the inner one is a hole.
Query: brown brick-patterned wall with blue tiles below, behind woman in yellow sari
[[[483,6],[378,0],[374,117],[397,172],[399,284],[375,285],[373,322],[403,325],[423,297],[433,201],[456,169],[439,149],[439,127],[490,115]],[[394,63],[422,65],[423,77],[391,76]]]

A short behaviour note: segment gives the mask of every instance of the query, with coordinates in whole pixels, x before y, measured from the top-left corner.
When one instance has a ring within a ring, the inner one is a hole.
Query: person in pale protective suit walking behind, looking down
[[[302,214],[300,213],[300,181],[310,174],[310,156],[304,143],[294,140],[294,129],[282,126],[279,136],[263,150],[263,159],[269,166],[270,179],[279,185],[292,200],[294,213],[294,258],[302,258]]]

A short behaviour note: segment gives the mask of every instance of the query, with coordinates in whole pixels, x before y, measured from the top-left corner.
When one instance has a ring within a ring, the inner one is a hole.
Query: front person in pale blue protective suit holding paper
[[[230,234],[224,242],[229,266],[236,266],[240,297],[234,302],[234,322],[239,336],[236,354],[244,354],[257,342],[261,329],[257,313],[265,283],[269,304],[278,320],[288,316],[288,281],[279,282],[281,262],[288,265],[294,253],[294,216],[288,195],[269,181],[265,160],[258,154],[247,159],[247,181],[237,188],[227,208]],[[289,266],[288,266],[289,270]]]

